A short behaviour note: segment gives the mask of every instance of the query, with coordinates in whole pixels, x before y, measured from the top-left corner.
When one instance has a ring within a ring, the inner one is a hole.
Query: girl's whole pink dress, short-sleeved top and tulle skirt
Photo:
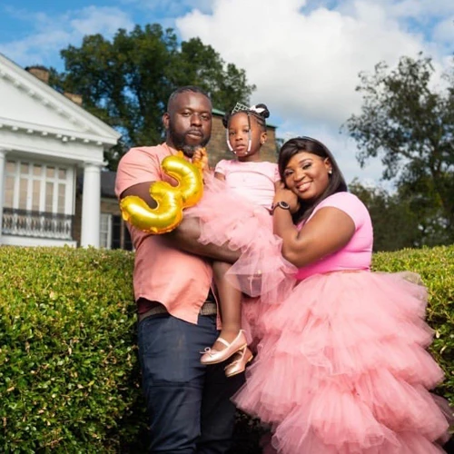
[[[242,251],[228,278],[244,291],[242,328],[253,347],[262,338],[262,315],[291,290],[289,277],[297,271],[281,257],[281,238],[272,234],[270,209],[280,176],[275,163],[236,160],[222,160],[215,172],[225,181],[205,175],[202,201],[184,215],[201,221],[199,242]]]

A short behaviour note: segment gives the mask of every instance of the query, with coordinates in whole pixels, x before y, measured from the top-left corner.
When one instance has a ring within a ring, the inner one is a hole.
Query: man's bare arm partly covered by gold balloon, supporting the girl
[[[143,199],[150,208],[155,208],[157,204],[150,195],[150,185],[152,183],[153,182],[135,184],[123,191],[121,198],[123,199],[123,197],[126,197],[127,195],[137,195]],[[220,247],[214,244],[201,244],[197,241],[200,233],[199,221],[197,219],[183,218],[183,222],[174,229],[173,232],[165,233],[162,236],[174,248],[195,255],[202,255],[202,257],[212,260],[233,263],[240,256],[239,251],[232,251],[225,245]]]

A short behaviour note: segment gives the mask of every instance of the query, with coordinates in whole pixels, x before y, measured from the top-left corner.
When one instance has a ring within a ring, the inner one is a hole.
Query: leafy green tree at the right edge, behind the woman
[[[402,57],[395,69],[380,63],[360,74],[361,113],[345,124],[361,165],[380,157],[383,178],[419,217],[423,242],[454,240],[454,84],[434,84],[431,59]]]

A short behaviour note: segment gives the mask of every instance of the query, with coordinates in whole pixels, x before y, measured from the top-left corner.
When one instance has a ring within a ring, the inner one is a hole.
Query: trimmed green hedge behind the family
[[[133,254],[1,247],[0,267],[0,451],[143,452]],[[379,253],[374,268],[428,285],[439,392],[454,402],[454,247]],[[260,452],[259,436],[239,417],[234,452]]]

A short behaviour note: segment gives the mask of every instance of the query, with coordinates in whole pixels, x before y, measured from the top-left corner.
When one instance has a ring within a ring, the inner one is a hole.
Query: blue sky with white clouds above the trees
[[[359,112],[360,71],[423,52],[439,75],[452,67],[452,0],[3,0],[0,52],[21,66],[63,70],[59,52],[84,35],[160,23],[182,39],[199,36],[257,85],[278,135],[326,143],[350,181],[378,182],[380,160],[360,169],[341,124]]]

